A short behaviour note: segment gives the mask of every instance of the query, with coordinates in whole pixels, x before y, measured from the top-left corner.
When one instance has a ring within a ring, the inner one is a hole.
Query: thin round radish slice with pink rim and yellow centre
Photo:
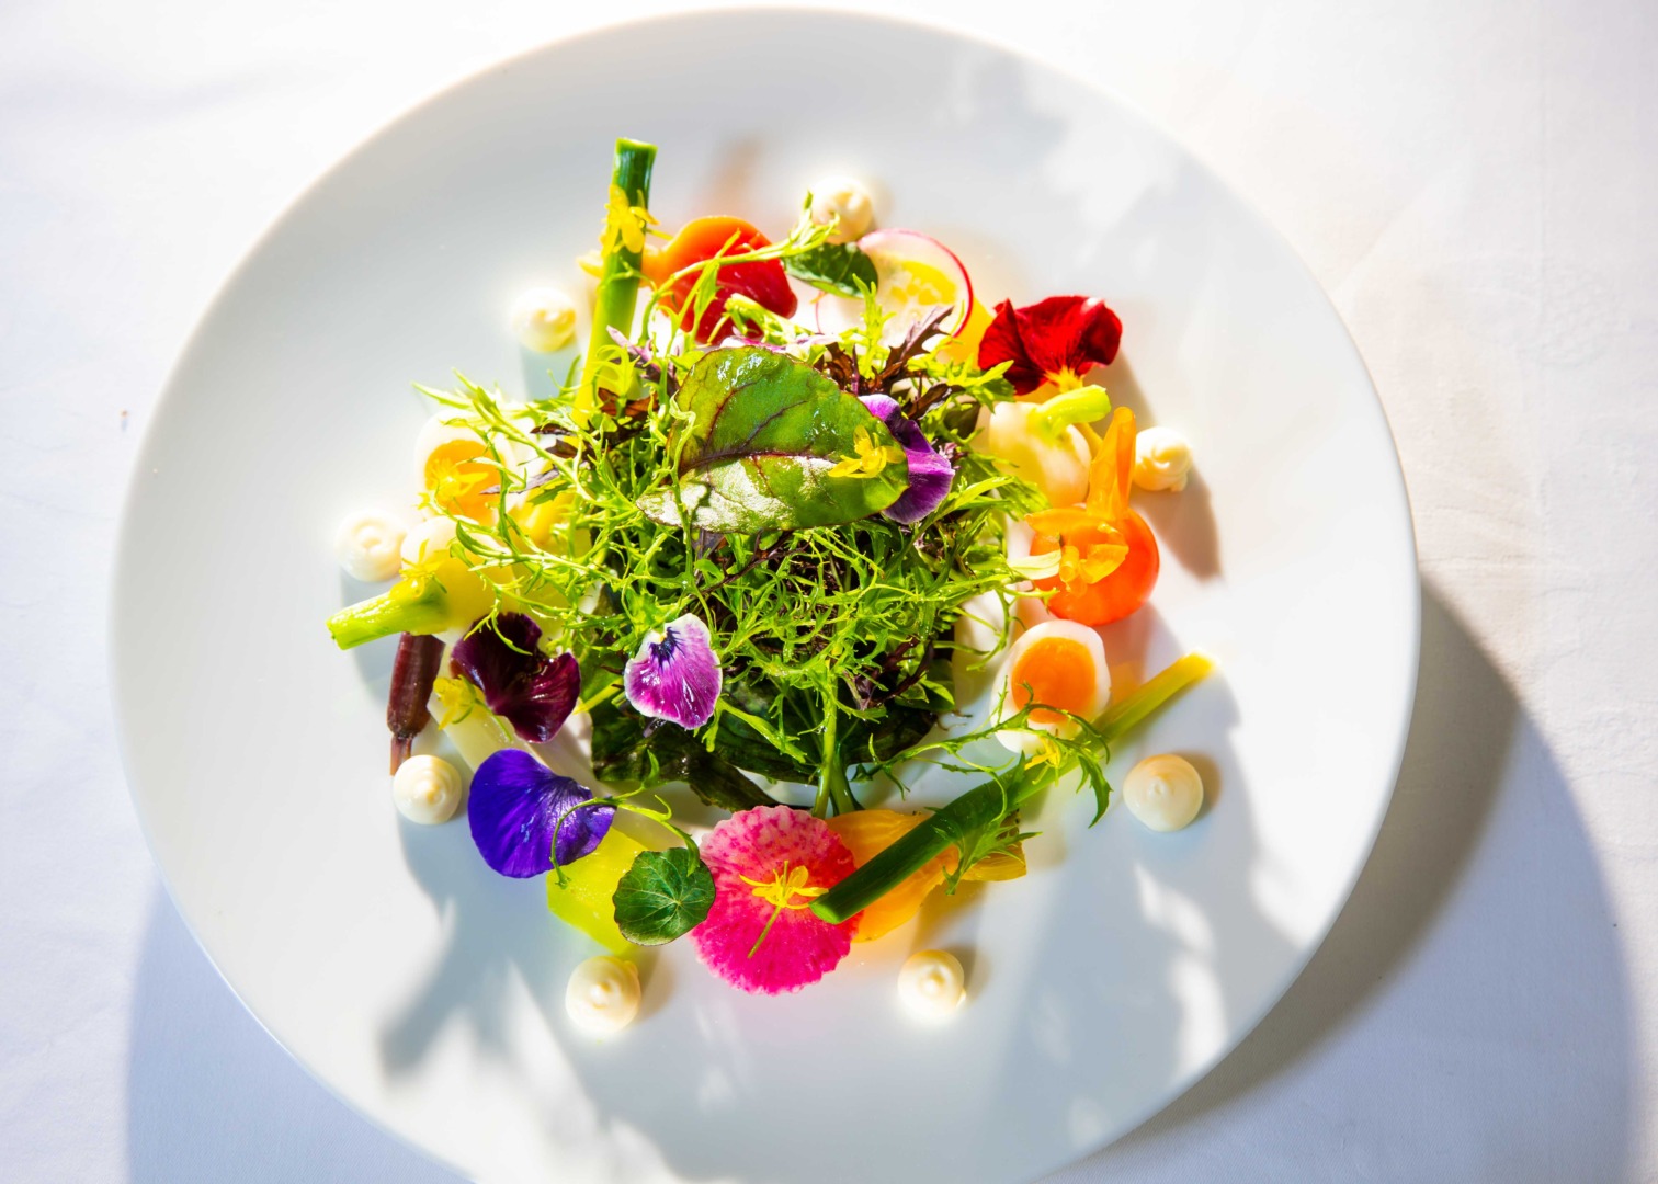
[[[943,322],[947,333],[967,323],[973,310],[973,282],[948,247],[919,230],[872,230],[857,240],[859,250],[875,265],[875,300],[890,320],[882,333],[889,345],[930,315],[948,305]],[[857,325],[864,305],[847,297],[824,295],[816,303],[817,330],[841,333]]]

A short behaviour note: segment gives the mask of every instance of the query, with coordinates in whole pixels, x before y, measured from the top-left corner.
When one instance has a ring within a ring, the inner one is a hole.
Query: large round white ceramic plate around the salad
[[[391,808],[390,643],[323,619],[351,509],[410,494],[451,368],[545,390],[506,330],[577,282],[610,146],[662,146],[653,209],[781,230],[824,172],[953,245],[982,295],[1098,294],[1108,385],[1182,428],[1200,479],[1147,496],[1154,609],[1119,663],[1184,647],[1222,677],[1113,768],[1176,750],[1214,801],[1161,836],[1051,799],[1033,874],[928,910],[788,998],[680,944],[643,1020],[562,1015],[592,950],[464,822]],[[366,1116],[482,1179],[1036,1177],[1184,1089],[1282,995],[1370,851],[1414,688],[1418,584],[1398,463],[1336,313],[1285,244],[1176,143],[1050,68],[957,35],[824,13],[630,25],[496,66],[363,144],[219,294],[144,444],[114,587],[133,796],[230,987]],[[895,1008],[910,949],[970,965],[968,1007]]]

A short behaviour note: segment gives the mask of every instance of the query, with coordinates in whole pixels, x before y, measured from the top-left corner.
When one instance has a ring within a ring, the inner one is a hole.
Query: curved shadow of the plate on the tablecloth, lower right
[[[1361,1056],[1325,1048],[1341,1040]],[[1623,1179],[1638,1106],[1631,1045],[1617,920],[1565,774],[1514,688],[1424,585],[1399,786],[1330,937],[1209,1076],[1054,1179],[1189,1181],[1205,1167],[1292,1179],[1308,1166],[1326,1179],[1396,1179],[1401,1164],[1434,1159],[1433,1179],[1446,1181]],[[1325,1065],[1310,1060],[1318,1053]],[[1250,1108],[1290,1080],[1316,1104],[1293,1126],[1252,1123]],[[1182,1154],[1224,1111],[1230,1129],[1248,1124],[1247,1146],[1197,1143],[1242,1152],[1247,1167]]]

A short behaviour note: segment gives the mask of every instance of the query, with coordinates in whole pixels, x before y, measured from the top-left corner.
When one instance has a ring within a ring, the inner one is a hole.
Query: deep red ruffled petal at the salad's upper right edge
[[[1081,376],[1111,365],[1119,345],[1122,322],[1099,297],[1048,297],[1023,308],[1003,300],[978,343],[978,365],[990,370],[1011,362],[1008,381],[1030,395],[1061,371]]]

